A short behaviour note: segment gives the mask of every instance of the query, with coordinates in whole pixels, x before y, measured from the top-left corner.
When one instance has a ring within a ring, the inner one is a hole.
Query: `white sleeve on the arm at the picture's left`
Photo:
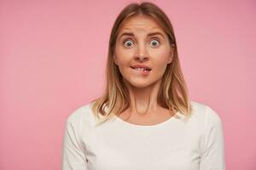
[[[66,129],[62,145],[62,170],[87,170],[86,158],[79,140],[79,124],[71,121],[71,116],[66,122]]]

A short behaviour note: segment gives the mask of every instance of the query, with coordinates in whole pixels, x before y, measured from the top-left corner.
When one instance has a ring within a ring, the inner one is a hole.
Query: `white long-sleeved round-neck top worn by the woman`
[[[98,127],[90,104],[79,107],[67,118],[62,170],[224,170],[220,117],[207,105],[191,105],[188,122],[172,116],[146,126],[114,116]]]

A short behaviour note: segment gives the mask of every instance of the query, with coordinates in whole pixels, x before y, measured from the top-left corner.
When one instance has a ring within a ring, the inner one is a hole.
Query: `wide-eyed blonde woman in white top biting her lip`
[[[218,114],[189,100],[170,20],[131,3],[114,22],[105,93],[68,117],[62,170],[224,170]]]

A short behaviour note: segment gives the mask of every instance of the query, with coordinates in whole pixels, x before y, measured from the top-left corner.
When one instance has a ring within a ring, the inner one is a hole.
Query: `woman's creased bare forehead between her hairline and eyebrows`
[[[164,32],[156,20],[149,16],[132,16],[126,19],[119,27],[122,31],[161,31]]]

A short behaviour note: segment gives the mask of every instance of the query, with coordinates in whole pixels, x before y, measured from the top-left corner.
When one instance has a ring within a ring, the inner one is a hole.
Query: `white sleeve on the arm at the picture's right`
[[[224,133],[218,114],[207,106],[200,170],[224,170]]]

